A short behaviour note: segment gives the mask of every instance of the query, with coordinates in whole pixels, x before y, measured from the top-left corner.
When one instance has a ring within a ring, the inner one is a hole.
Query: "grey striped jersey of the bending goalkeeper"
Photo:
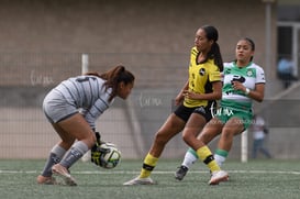
[[[53,89],[64,101],[79,111],[92,129],[95,121],[113,102],[109,102],[111,88],[105,91],[104,80],[97,76],[78,76],[62,81]]]

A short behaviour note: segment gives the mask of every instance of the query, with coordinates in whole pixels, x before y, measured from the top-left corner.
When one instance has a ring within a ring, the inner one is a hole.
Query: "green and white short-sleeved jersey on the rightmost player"
[[[246,67],[237,67],[235,62],[224,63],[223,89],[221,104],[232,108],[252,108],[252,99],[242,90],[234,90],[232,81],[240,81],[248,89],[255,89],[256,84],[265,84],[264,69],[249,63]],[[242,107],[241,107],[242,106]]]

